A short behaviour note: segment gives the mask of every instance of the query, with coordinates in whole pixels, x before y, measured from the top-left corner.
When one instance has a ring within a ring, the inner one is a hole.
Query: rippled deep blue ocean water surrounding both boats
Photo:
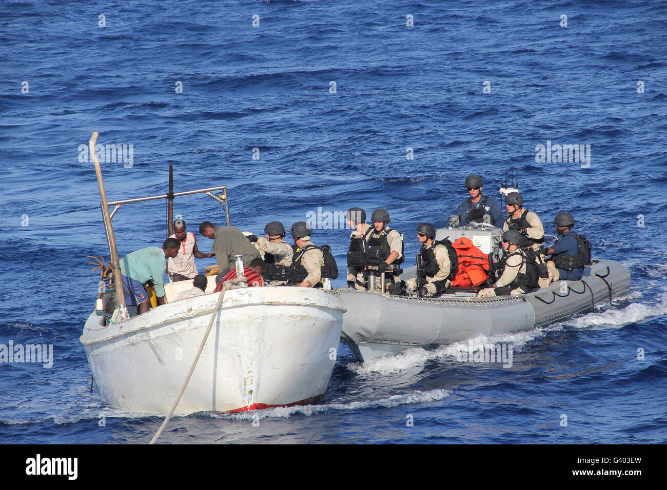
[[[547,228],[570,211],[632,275],[588,315],[476,339],[510,343],[512,369],[458,363],[456,345],[369,363],[342,346],[318,405],[175,418],[161,442],[666,442],[666,21],[633,0],[0,3],[0,343],[54,357],[0,365],[0,442],[144,443],[161,423],[91,391],[79,343],[97,297],[86,256],[108,254],[79,159],[93,131],[133,145],[103,164],[109,199],[165,193],[173,161],[175,191],[228,185],[232,224],[255,233],[385,207],[408,261],[466,175],[496,197],[514,167]],[[590,145],[590,162],[536,161],[548,141]],[[223,222],[207,197],[175,213],[191,231]],[[123,206],[119,253],[161,243],[164,222],[162,201]],[[340,267],[348,236],[315,235]]]

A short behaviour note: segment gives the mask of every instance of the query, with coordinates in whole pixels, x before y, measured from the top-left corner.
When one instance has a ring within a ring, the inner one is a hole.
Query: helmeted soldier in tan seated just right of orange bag
[[[517,230],[508,230],[502,234],[504,256],[500,261],[500,277],[492,287],[482,289],[478,298],[506,295],[512,296],[530,293],[538,286],[538,271],[534,257],[528,257],[521,244],[524,236]],[[532,253],[532,249],[529,253]]]

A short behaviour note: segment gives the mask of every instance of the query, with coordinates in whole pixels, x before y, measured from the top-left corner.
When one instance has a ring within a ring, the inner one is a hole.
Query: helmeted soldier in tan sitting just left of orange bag
[[[436,241],[436,227],[432,223],[420,223],[417,226],[417,239],[422,243],[420,265],[426,275],[426,284],[420,287],[420,297],[430,297],[442,293],[450,284],[450,250],[444,241]],[[456,251],[454,251],[456,255]],[[416,278],[408,279],[406,285],[416,289]]]

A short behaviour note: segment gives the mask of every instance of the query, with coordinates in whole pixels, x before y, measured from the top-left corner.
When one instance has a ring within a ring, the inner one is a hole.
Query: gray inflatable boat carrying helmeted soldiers
[[[438,230],[436,238],[448,236],[454,241],[466,236],[485,253],[495,253],[501,235],[497,228],[454,228]],[[415,275],[412,267],[401,277]],[[343,315],[342,341],[366,361],[412,347],[464,341],[480,334],[530,330],[592,311],[596,305],[625,295],[630,291],[630,273],[616,261],[594,259],[584,269],[581,281],[556,281],[526,295],[478,299],[473,292],[447,291],[439,297],[418,298],[338,289],[348,309]]]

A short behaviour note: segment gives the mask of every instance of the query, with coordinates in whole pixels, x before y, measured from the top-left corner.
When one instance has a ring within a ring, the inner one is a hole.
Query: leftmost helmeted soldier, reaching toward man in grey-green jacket
[[[284,239],[285,227],[280,221],[271,221],[264,227],[264,237],[249,235],[247,239],[255,243],[257,250],[264,253],[263,277],[277,286],[287,283],[291,278],[291,263],[294,250]]]

